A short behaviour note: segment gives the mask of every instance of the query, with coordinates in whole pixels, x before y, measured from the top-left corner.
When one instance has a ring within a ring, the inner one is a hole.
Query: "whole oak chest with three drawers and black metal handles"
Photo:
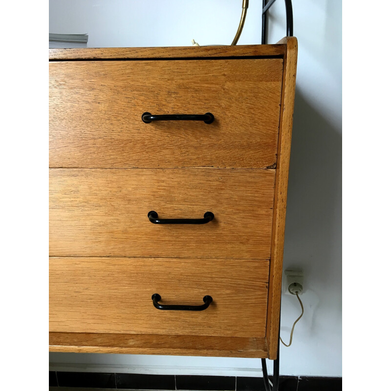
[[[49,60],[50,350],[274,359],[296,39]]]

